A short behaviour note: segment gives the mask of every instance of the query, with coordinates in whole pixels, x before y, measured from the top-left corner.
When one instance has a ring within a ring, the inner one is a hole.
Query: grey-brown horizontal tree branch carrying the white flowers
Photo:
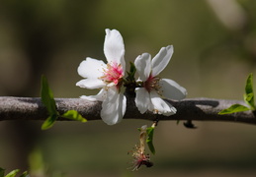
[[[57,110],[60,114],[67,110],[77,110],[87,120],[100,120],[101,102],[88,101],[81,98],[55,98]],[[226,100],[213,98],[190,98],[182,101],[168,100],[177,108],[172,116],[155,115],[150,112],[140,114],[134,99],[128,98],[128,108],[125,119],[145,120],[197,120],[197,121],[229,121],[256,125],[256,118],[252,111],[226,115],[217,113],[232,104],[242,104],[241,100]],[[11,97],[0,96],[0,121],[4,120],[45,120],[47,112],[39,97]],[[58,120],[66,120],[59,118]]]

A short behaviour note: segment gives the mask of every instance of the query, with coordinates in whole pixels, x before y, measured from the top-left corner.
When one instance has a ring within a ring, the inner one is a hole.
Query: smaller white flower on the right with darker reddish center
[[[135,59],[135,68],[138,72],[138,83],[141,88],[136,88],[135,103],[143,114],[146,110],[166,116],[176,113],[176,108],[162,97],[169,99],[183,99],[187,90],[176,82],[169,79],[161,79],[159,73],[169,63],[173,54],[173,46],[162,47],[156,56],[151,60],[148,53],[143,53]]]

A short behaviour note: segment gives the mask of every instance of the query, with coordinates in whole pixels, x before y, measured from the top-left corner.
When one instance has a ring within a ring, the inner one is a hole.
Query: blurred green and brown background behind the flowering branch
[[[256,73],[256,1],[251,0],[0,0],[0,95],[40,96],[44,74],[55,97],[97,91],[75,87],[85,57],[105,60],[105,29],[119,29],[126,60],[154,56],[174,45],[161,73],[188,89],[188,97],[242,99],[245,80]],[[128,151],[136,128],[57,122],[0,123],[0,166],[49,176],[255,176],[256,127],[222,122],[160,122],[152,168],[130,172]]]

